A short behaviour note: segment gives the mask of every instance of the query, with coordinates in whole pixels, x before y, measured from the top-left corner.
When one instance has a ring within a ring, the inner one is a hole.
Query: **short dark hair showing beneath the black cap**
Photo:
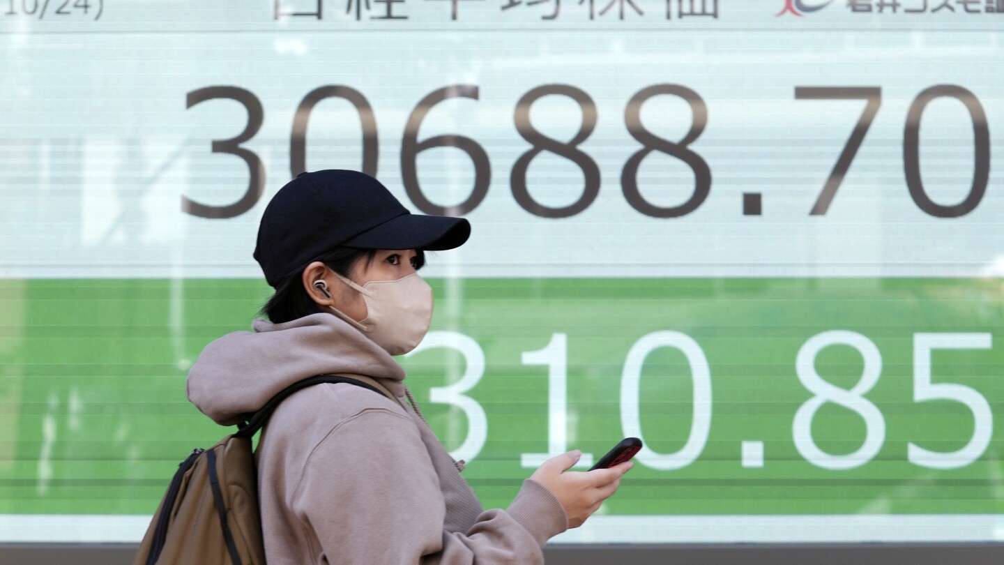
[[[351,278],[352,268],[359,259],[365,257],[365,265],[368,266],[375,256],[375,249],[335,247],[313,259],[313,261],[321,261],[338,274],[346,278]],[[313,261],[309,261],[307,264]],[[418,251],[415,257],[415,267],[421,268],[425,262],[425,253],[421,250]],[[260,315],[268,317],[273,324],[282,324],[283,322],[290,322],[304,316],[323,312],[317,306],[317,303],[313,302],[313,299],[307,295],[306,289],[303,288],[302,277],[304,268],[306,268],[306,265],[279,279],[278,285],[275,286],[275,294],[261,308],[261,311],[259,311]]]

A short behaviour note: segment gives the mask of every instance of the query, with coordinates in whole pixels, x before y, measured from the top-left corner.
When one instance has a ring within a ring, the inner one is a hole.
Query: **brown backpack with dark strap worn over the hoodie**
[[[321,383],[353,384],[398,402],[366,377],[317,375],[286,387],[239,425],[237,432],[209,449],[195,449],[182,461],[133,564],[264,565],[251,437],[284,398]]]

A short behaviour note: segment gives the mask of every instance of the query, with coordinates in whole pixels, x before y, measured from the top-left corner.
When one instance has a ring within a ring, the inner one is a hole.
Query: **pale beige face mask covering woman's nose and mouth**
[[[429,332],[433,319],[433,289],[419,273],[413,272],[397,280],[370,280],[362,287],[337,272],[334,274],[362,295],[367,315],[362,322],[356,322],[333,306],[328,308],[391,355],[412,351]]]

